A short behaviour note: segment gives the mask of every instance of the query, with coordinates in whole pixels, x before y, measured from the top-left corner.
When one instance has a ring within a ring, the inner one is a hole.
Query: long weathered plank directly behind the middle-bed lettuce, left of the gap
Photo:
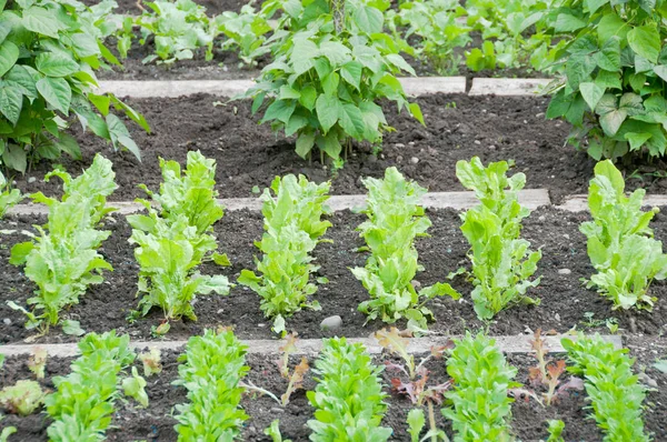
[[[229,198],[218,200],[227,210],[260,210],[259,198]],[[549,192],[546,189],[525,189],[519,191],[519,201],[528,209],[537,209],[551,203]],[[334,195],[329,199],[332,211],[346,209],[360,209],[366,202],[366,195]],[[421,204],[430,209],[469,209],[478,204],[474,192],[429,192],[421,198]],[[143,205],[131,201],[110,201],[109,207],[118,209],[120,214],[136,213],[143,210]],[[17,204],[10,211],[14,214],[47,214],[46,205],[41,204]]]

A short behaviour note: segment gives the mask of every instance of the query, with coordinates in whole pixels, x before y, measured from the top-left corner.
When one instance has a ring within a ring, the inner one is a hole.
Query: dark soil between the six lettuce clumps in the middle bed
[[[419,239],[417,248],[419,262],[425,271],[418,273],[415,284],[427,287],[445,281],[448,273],[467,264],[468,244],[460,233],[460,220],[454,210],[429,210],[432,221],[429,229],[431,237]],[[579,282],[593,272],[586,253],[586,242],[578,232],[580,222],[587,220],[586,213],[564,213],[555,209],[541,209],[534,212],[526,221],[524,235],[532,242],[534,248],[541,248],[542,260],[538,273],[541,284],[530,294],[540,298],[539,307],[517,305],[499,313],[488,324],[492,334],[531,333],[532,330],[555,329],[567,332],[571,328],[606,331],[604,321],[616,318],[624,333],[645,333],[657,335],[666,331],[665,311],[667,310],[667,285],[655,282],[653,294],[658,298],[653,312],[620,313],[610,309],[610,303],[594,291],[586,290]],[[331,217],[334,227],[327,232],[332,244],[320,244],[315,257],[321,265],[320,275],[330,282],[320,285],[316,299],[321,303],[321,311],[301,311],[288,320],[288,329],[295,330],[302,338],[320,338],[331,332],[320,330],[320,322],[330,315],[340,315],[344,321],[339,334],[347,336],[367,336],[384,327],[380,322],[365,325],[366,317],[357,311],[359,303],[368,299],[368,293],[357,281],[349,268],[362,267],[366,254],[356,250],[364,244],[355,228],[365,215],[349,211],[338,212]],[[11,247],[24,241],[21,230],[32,230],[31,224],[41,223],[34,217],[10,217],[0,222],[0,230],[14,230],[17,233],[0,235],[0,284],[6,290],[0,293],[0,342],[20,342],[31,333],[23,329],[23,317],[4,301],[13,300],[24,304],[31,297],[33,284],[23,275],[22,269],[8,263]],[[667,217],[659,214],[654,222],[658,238],[667,235]],[[150,340],[151,327],[159,325],[162,313],[156,309],[147,318],[129,323],[126,318],[137,307],[135,299],[138,267],[133,259],[132,248],[127,243],[130,228],[122,217],[111,218],[104,229],[112,235],[100,249],[115,271],[104,275],[106,282],[93,285],[81,298],[78,305],[62,312],[62,318],[81,322],[86,331],[106,331],[117,329],[121,333],[130,333],[136,340]],[[253,269],[252,258],[258,253],[252,242],[261,237],[262,221],[259,212],[247,210],[229,212],[216,225],[220,249],[231,259],[230,268],[218,268],[205,264],[203,273],[222,273],[236,282],[242,269]],[[569,274],[563,274],[570,271]],[[560,272],[559,272],[560,270]],[[436,299],[429,303],[437,321],[430,330],[438,334],[460,334],[466,330],[478,330],[487,327],[477,320],[469,299],[471,287],[462,278],[454,281],[454,285],[464,298],[461,301]],[[200,333],[203,328],[232,325],[242,339],[271,339],[271,322],[261,315],[259,297],[248,288],[237,285],[228,297],[207,295],[196,300],[195,311],[198,321],[173,322],[167,339],[187,339]],[[593,314],[594,321],[585,314]],[[399,322],[404,328],[405,323]],[[61,333],[56,328],[39,342],[72,341],[73,338]]]

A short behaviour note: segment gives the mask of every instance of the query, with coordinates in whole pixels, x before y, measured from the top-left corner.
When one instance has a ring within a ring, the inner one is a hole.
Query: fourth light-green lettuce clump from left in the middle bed
[[[371,255],[365,268],[355,268],[352,273],[361,281],[369,301],[359,305],[359,311],[368,315],[367,322],[377,318],[394,323],[408,319],[412,330],[426,330],[432,312],[425,307],[435,297],[449,295],[458,299],[458,293],[445,283],[437,283],[419,292],[411,284],[422,268],[417,263],[415,238],[425,237],[430,227],[428,217],[419,205],[426,189],[416,182],[406,181],[396,168],[388,168],[381,180],[366,178],[368,189],[365,213],[368,221],[357,230],[366,240]]]

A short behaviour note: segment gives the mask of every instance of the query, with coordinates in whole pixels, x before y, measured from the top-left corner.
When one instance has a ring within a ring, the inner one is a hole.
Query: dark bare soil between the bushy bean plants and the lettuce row
[[[97,152],[104,154],[115,164],[120,187],[111,200],[141,197],[139,183],[157,189],[161,182],[159,158],[182,163],[191,150],[217,161],[217,189],[222,198],[252,197],[255,185],[268,187],[276,175],[287,173],[302,173],[317,182],[331,180],[332,194],[365,193],[361,178],[381,177],[391,165],[430,191],[464,190],[456,178],[456,162],[474,155],[485,163],[511,161],[515,167],[510,173],[526,173],[527,188],[548,189],[556,203],[564,195],[587,192],[595,161],[566,144],[567,123],[545,120],[548,98],[432,94],[416,101],[426,127],[405,112],[397,114],[396,108],[386,103],[385,113],[396,132],[386,134],[382,151],[376,155],[369,145],[356,145],[335,175],[329,162],[319,162],[319,155],[311,161],[299,158],[293,138],[258,124],[259,117],[251,115],[249,101],[227,102],[207,94],[126,100],[146,115],[152,129],[148,134],[128,122],[142,151],[141,162],[129,152],[115,152],[90,132],[82,133],[78,124],[72,134],[80,141],[83,159],[63,157],[60,162],[78,173]],[[57,194],[58,180],[42,181],[50,168],[36,164],[26,175],[16,175],[16,183],[24,192]],[[643,187],[665,193],[667,180],[655,173],[660,169],[660,163],[626,165],[628,189]]]

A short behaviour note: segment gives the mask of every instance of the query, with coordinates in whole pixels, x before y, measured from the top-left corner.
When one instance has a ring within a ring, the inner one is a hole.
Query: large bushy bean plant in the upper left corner
[[[118,60],[98,37],[89,9],[76,0],[2,7],[0,163],[26,172],[28,164],[58,159],[61,152],[80,159],[77,140],[64,132],[70,115],[140,159],[125,123],[109,109],[113,106],[148,131],[143,117],[110,93],[93,93],[94,70]]]

